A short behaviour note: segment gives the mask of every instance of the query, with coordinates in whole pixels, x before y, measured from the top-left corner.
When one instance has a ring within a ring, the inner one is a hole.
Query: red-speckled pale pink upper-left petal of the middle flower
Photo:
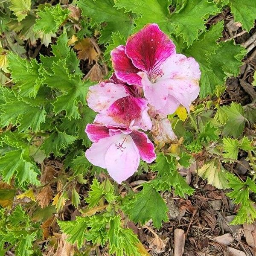
[[[101,82],[89,87],[87,103],[95,112],[101,113],[117,99],[127,95],[129,93],[122,84]]]

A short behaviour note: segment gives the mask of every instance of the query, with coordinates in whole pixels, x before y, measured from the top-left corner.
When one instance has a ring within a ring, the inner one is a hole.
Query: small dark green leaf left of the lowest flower
[[[41,149],[49,156],[53,153],[55,156],[62,156],[61,150],[65,149],[76,140],[76,137],[66,134],[66,132],[53,131],[49,137],[44,140]]]

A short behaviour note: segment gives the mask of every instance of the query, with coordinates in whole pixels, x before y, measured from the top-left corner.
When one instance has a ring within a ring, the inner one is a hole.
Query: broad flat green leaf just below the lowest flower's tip
[[[123,207],[123,210],[135,223],[145,224],[152,219],[154,227],[160,228],[162,221],[168,221],[163,198],[150,184],[143,185],[143,190],[134,195]]]

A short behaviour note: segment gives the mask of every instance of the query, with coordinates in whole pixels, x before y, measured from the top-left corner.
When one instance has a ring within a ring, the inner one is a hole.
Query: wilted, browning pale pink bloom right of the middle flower
[[[153,119],[153,127],[151,130],[151,135],[153,137],[154,143],[161,148],[166,143],[170,143],[173,140],[177,140],[176,135],[172,131],[172,124],[169,119]]]

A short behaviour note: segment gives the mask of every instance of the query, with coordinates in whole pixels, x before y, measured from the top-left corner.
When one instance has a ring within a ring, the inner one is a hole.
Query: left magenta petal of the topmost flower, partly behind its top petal
[[[131,59],[125,54],[125,47],[123,45],[119,45],[111,51],[111,60],[117,79],[128,84],[141,85],[141,78],[137,75],[140,70],[134,67]]]

